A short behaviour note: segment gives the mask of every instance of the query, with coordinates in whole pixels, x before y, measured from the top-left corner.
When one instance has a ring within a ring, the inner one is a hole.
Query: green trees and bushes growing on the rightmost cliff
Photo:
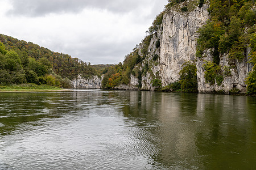
[[[213,63],[205,64],[205,79],[208,83],[220,85],[223,76],[230,74],[229,68],[219,66],[220,56],[229,54],[229,65],[243,61],[246,49],[251,46],[250,59],[255,65],[255,2],[250,0],[210,0],[210,20],[199,29],[196,56],[204,57],[205,50],[210,49]],[[222,73],[224,70],[224,73]],[[247,78],[249,93],[255,93],[255,66]]]

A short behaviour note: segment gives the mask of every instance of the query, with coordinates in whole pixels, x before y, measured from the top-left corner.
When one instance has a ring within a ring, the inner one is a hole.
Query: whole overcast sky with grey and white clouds
[[[0,0],[0,33],[92,64],[123,61],[167,0]]]

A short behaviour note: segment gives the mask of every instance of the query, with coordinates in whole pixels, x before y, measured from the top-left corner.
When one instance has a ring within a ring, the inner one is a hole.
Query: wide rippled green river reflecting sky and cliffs
[[[256,98],[0,93],[0,169],[255,169]]]

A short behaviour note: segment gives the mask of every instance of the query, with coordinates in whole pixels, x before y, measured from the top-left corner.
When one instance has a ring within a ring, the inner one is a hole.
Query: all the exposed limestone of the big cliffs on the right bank
[[[216,81],[214,84],[209,84],[205,81],[204,64],[207,61],[213,61],[213,56],[208,50],[204,53],[204,58],[197,58],[196,39],[199,37],[197,30],[209,19],[209,5],[205,3],[203,7],[198,7],[193,4],[193,1],[189,3],[191,3],[190,6],[192,7],[187,12],[179,10],[181,6],[184,6],[183,3],[179,7],[176,6],[176,8],[171,8],[164,12],[162,24],[158,31],[151,36],[147,56],[141,65],[135,66],[135,69],[143,73],[141,89],[154,91],[156,88],[152,85],[154,79],[160,79],[162,87],[177,82],[180,78],[179,71],[182,69],[183,64],[186,61],[191,61],[196,63],[199,92],[224,92],[229,94],[229,91],[233,89],[246,92],[245,78],[252,69],[251,64],[248,62],[249,48],[247,48],[246,57],[242,61],[233,59],[230,62],[228,53],[220,56],[222,72],[225,71],[225,68],[230,70],[230,73],[224,76],[221,84]],[[159,45],[156,45],[157,43]],[[144,46],[143,42],[138,45],[140,55],[143,55],[141,50],[143,50]],[[145,67],[146,72],[144,71]],[[136,77],[134,78],[134,76],[131,78],[129,88],[130,86],[139,86],[139,79],[135,79]]]

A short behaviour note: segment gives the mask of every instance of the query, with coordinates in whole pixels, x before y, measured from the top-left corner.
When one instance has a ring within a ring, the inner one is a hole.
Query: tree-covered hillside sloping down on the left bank
[[[48,84],[69,87],[78,74],[96,74],[90,63],[52,52],[32,42],[0,35],[0,84]]]

